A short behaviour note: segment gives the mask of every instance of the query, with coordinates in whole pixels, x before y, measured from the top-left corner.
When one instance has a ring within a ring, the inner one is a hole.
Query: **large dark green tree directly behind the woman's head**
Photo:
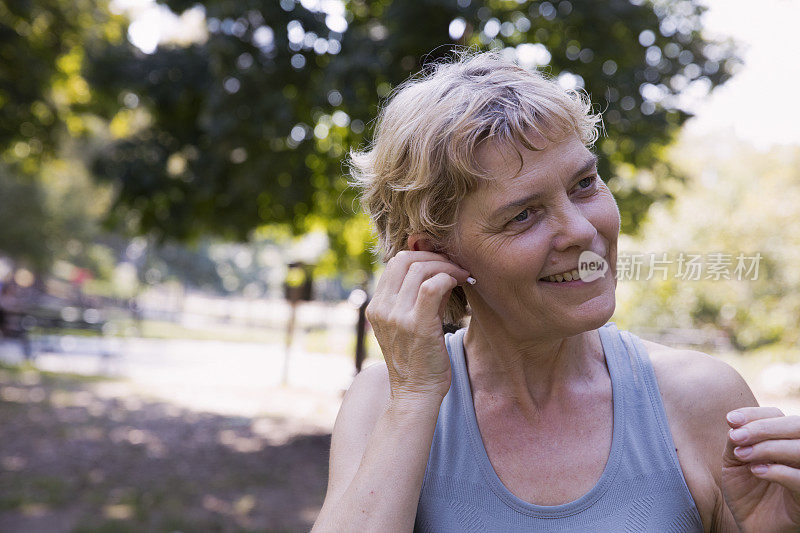
[[[668,194],[640,186],[633,169],[670,174],[662,152],[688,118],[681,92],[723,83],[736,63],[730,44],[700,35],[693,0],[350,0],[339,14],[309,4],[207,0],[203,43],[96,50],[86,76],[98,112],[145,117],[94,167],[118,185],[117,216],[182,240],[324,226],[341,257],[369,265],[342,156],[392,87],[460,44],[516,47],[585,87],[605,111],[600,170],[633,231]]]

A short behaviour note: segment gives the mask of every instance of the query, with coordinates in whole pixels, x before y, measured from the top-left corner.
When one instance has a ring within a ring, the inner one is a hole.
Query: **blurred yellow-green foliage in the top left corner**
[[[65,134],[85,132],[80,113],[91,100],[81,76],[85,54],[121,42],[122,30],[106,2],[0,3],[0,154],[6,163],[34,173]]]

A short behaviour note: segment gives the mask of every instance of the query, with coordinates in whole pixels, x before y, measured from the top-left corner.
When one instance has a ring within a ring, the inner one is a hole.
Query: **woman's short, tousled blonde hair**
[[[475,160],[482,142],[516,150],[516,141],[536,150],[527,137],[535,132],[550,141],[577,134],[591,146],[599,123],[585,93],[565,90],[500,52],[465,50],[428,65],[392,92],[372,144],[350,152],[350,173],[375,224],[381,259],[405,249],[417,232],[446,248],[461,200],[487,178]],[[457,288],[445,322],[459,324],[466,314]]]

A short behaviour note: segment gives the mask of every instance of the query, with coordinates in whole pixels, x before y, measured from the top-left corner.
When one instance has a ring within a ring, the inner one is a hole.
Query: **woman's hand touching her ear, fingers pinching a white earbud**
[[[469,273],[433,252],[402,251],[389,260],[367,318],[386,366],[392,401],[416,398],[440,402],[450,389],[450,359],[442,317],[450,291]]]

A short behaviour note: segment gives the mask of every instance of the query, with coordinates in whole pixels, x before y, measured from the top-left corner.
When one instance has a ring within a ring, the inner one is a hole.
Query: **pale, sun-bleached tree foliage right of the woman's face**
[[[620,321],[634,329],[724,331],[738,350],[770,343],[796,350],[800,148],[759,152],[725,132],[682,137],[671,159],[689,179],[674,202],[650,211],[640,236],[620,241],[624,252],[667,253],[669,273],[646,280],[649,256],[640,258],[641,278],[618,286]],[[681,254],[695,256],[696,276],[677,275]]]

